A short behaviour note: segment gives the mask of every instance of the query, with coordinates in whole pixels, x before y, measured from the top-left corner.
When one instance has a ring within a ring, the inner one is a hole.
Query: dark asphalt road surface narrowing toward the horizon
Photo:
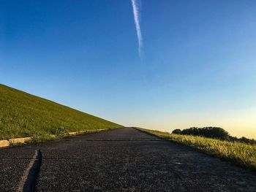
[[[0,149],[0,191],[39,148],[36,191],[256,191],[255,173],[134,128]]]

